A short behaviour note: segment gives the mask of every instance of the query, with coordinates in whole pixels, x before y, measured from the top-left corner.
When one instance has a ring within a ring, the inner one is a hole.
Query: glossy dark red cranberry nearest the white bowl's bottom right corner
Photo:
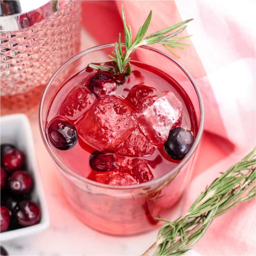
[[[27,227],[35,225],[40,220],[41,211],[36,203],[25,200],[15,206],[13,215],[20,226]]]

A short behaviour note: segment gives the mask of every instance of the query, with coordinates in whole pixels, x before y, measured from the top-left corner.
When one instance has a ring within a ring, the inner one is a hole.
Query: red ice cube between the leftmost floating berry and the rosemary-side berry
[[[77,119],[92,105],[96,97],[84,85],[78,85],[69,92],[61,105],[60,115]]]

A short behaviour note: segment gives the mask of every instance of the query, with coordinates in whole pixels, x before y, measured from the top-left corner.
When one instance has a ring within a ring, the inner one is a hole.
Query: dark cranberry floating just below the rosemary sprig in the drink
[[[110,74],[101,73],[91,79],[89,88],[96,97],[99,97],[102,94],[114,92],[117,88],[117,83]]]

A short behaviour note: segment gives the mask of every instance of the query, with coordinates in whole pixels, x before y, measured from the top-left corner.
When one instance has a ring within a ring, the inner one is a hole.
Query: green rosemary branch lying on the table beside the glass
[[[180,255],[187,252],[204,235],[212,220],[237,204],[255,197],[255,148],[240,162],[214,180],[196,199],[188,212],[166,222],[156,242],[142,255]]]

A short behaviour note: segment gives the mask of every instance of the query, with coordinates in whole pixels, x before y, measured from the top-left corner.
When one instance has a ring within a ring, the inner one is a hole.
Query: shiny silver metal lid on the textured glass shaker
[[[60,4],[61,2],[61,4]],[[1,0],[0,31],[17,31],[49,18],[69,1]],[[35,18],[36,17],[36,18]]]

